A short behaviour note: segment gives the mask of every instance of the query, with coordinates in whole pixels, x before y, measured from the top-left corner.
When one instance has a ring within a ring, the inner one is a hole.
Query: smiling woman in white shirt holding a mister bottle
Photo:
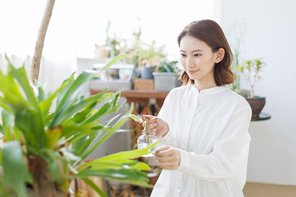
[[[252,111],[232,92],[232,53],[212,20],[190,23],[178,36],[183,86],[170,91],[149,128],[166,145],[151,197],[243,197]]]

